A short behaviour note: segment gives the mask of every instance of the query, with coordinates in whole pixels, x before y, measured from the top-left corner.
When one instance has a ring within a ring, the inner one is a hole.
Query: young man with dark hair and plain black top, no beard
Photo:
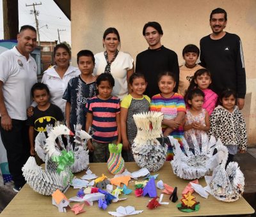
[[[171,71],[175,75],[176,92],[179,87],[179,64],[177,54],[161,45],[163,36],[162,27],[158,22],[147,22],[142,31],[148,43],[148,49],[144,50],[136,57],[137,73],[145,75],[148,82],[145,94],[150,98],[160,93],[157,85],[157,77],[164,71]]]

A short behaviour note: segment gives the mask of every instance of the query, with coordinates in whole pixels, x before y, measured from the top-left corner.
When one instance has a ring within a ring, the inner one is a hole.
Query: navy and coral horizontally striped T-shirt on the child
[[[87,101],[87,112],[92,113],[92,128],[95,130],[93,140],[96,142],[113,142],[118,138],[116,114],[120,113],[120,100],[112,96],[101,100],[94,96]]]

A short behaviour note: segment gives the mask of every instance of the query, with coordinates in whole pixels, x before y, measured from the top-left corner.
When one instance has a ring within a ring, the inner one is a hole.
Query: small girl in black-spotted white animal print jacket
[[[220,138],[228,148],[228,165],[234,160],[238,147],[240,153],[246,152],[247,133],[243,115],[236,106],[236,93],[231,89],[225,89],[220,94],[220,104],[211,114],[209,135],[216,139]]]

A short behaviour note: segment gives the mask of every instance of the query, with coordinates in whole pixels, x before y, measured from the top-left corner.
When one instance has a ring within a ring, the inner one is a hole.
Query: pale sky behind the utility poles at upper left
[[[58,40],[58,30],[60,31],[60,40],[67,41],[71,44],[71,29],[70,20],[67,19],[65,14],[60,10],[53,0],[18,0],[19,2],[19,28],[23,25],[35,25],[35,15],[31,14],[33,6],[26,6],[26,4],[42,3],[35,6],[36,11],[39,11],[37,16],[39,22],[40,41],[54,41]],[[47,27],[45,26],[48,26]],[[4,37],[3,31],[3,0],[0,0],[0,40]]]

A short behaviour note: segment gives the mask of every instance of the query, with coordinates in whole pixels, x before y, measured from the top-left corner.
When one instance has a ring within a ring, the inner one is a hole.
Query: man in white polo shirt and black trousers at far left
[[[17,40],[17,47],[0,55],[0,131],[16,192],[26,183],[21,168],[29,157],[26,108],[36,82],[36,62],[30,56],[36,47],[36,29],[22,26]]]

